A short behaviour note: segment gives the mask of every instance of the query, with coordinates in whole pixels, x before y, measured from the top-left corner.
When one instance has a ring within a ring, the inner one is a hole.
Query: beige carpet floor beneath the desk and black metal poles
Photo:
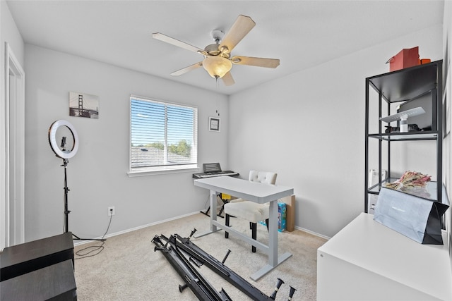
[[[224,222],[224,219],[218,220]],[[246,221],[231,219],[231,225],[251,236],[249,223]],[[169,237],[177,233],[188,237],[194,228],[199,233],[207,231],[208,216],[194,214],[113,236],[107,238],[104,250],[99,254],[79,259],[76,256],[78,300],[197,300],[189,288],[179,293],[179,284],[184,284],[184,281],[159,251],[154,252],[155,245],[151,242],[155,235],[160,234]],[[265,226],[258,225],[257,239],[267,242]],[[225,239],[224,231],[191,238],[191,241],[220,261],[227,250],[231,250],[225,265],[266,295],[273,293],[278,278],[283,279],[285,284],[281,286],[276,300],[287,300],[290,285],[297,289],[292,300],[316,300],[316,250],[326,242],[323,238],[299,230],[279,233],[278,252],[290,252],[292,257],[258,281],[251,280],[249,276],[268,262],[266,254],[260,250],[251,253],[251,245],[232,235]],[[90,242],[78,245],[75,251],[100,244],[101,242]],[[249,300],[249,297],[210,271],[207,266],[201,266],[198,271],[217,290],[224,288],[232,300]]]

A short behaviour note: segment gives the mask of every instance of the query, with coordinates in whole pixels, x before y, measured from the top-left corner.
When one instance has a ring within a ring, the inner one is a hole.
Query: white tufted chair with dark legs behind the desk
[[[249,178],[251,182],[265,183],[268,185],[275,185],[277,173],[270,171],[249,171]],[[269,204],[258,204],[256,202],[246,201],[246,199],[232,199],[225,204],[225,225],[230,226],[230,216],[249,221],[251,228],[251,238],[256,240],[257,237],[257,223],[259,221],[266,221],[268,229]],[[225,238],[229,238],[229,233],[225,231]],[[256,252],[256,247],[251,247],[252,252]]]

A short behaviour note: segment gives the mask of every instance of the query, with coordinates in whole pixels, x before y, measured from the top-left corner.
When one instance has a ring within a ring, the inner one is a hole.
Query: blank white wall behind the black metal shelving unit
[[[442,59],[441,25],[233,95],[230,168],[278,172],[295,188],[295,225],[332,237],[364,211],[365,78],[415,46]]]

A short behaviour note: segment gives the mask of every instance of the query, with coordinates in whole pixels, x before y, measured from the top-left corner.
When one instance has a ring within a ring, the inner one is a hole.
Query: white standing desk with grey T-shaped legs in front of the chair
[[[231,235],[237,236],[248,242],[250,245],[254,245],[259,250],[266,252],[268,255],[268,264],[263,266],[262,269],[256,271],[256,273],[252,274],[251,279],[257,281],[259,278],[292,256],[292,254],[286,252],[278,257],[278,199],[281,197],[287,197],[287,195],[293,195],[293,188],[256,183],[228,176],[194,180],[194,184],[195,186],[210,190],[210,208],[213,213],[217,211],[217,192],[234,195],[234,197],[242,197],[243,199],[260,204],[270,202],[268,246],[252,239],[251,237],[239,233],[239,231],[235,231],[233,228],[227,227],[222,223],[218,223],[216,214],[210,214],[210,231],[195,235],[195,237],[201,237],[203,235],[219,231],[220,229],[227,229],[227,232]]]

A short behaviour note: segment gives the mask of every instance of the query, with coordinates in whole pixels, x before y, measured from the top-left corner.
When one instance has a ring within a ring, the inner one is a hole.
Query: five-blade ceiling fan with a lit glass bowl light
[[[174,71],[171,75],[182,75],[191,70],[195,70],[201,66],[207,70],[210,76],[218,80],[221,78],[225,85],[230,86],[234,84],[234,79],[230,73],[232,64],[258,66],[266,68],[276,68],[280,64],[279,59],[265,59],[251,56],[232,56],[231,51],[239,44],[240,41],[253,29],[256,25],[254,20],[248,16],[239,15],[235,20],[231,29],[224,36],[221,30],[213,30],[212,37],[215,40],[214,44],[207,45],[204,49],[194,47],[186,42],[179,41],[160,32],[153,33],[154,39],[159,39],[162,42],[172,44],[177,47],[194,51],[204,56],[203,61],[194,63],[191,66]],[[224,36],[224,37],[223,37]]]

